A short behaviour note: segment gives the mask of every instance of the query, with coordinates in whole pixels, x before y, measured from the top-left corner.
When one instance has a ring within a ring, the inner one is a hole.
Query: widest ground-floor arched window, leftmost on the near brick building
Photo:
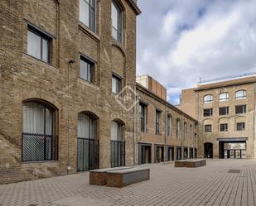
[[[57,159],[56,109],[46,103],[22,105],[22,161]]]

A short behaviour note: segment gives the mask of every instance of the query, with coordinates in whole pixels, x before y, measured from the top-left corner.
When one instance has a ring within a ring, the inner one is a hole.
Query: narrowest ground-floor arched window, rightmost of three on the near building
[[[111,122],[111,167],[125,165],[124,124],[121,121]]]

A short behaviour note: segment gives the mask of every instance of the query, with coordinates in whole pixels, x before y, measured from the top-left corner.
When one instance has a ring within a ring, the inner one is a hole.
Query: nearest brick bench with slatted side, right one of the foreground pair
[[[149,168],[130,168],[107,172],[107,186],[122,188],[129,184],[149,180]]]

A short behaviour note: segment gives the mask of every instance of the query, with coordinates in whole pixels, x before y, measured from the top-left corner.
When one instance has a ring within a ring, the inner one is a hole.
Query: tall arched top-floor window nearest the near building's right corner
[[[112,1],[112,36],[122,43],[123,39],[123,11],[118,2]]]

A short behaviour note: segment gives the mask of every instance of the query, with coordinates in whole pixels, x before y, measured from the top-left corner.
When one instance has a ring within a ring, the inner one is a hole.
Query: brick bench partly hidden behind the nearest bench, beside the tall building
[[[131,166],[120,166],[114,168],[105,168],[99,170],[90,170],[89,171],[89,184],[96,184],[96,185],[105,185],[107,184],[107,172],[114,171],[114,170],[125,170],[133,168]]]

